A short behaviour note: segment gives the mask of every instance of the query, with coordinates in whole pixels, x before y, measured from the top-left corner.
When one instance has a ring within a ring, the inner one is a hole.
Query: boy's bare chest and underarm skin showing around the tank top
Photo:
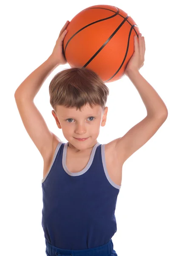
[[[50,157],[47,160],[44,160],[44,169],[43,169],[43,178],[49,171],[51,166],[54,153],[57,147],[59,140],[54,139],[53,149]],[[110,176],[111,180],[116,185],[121,185],[122,182],[122,163],[119,163],[116,157],[116,151],[114,149],[114,145],[116,140],[111,141],[108,144],[105,144],[105,161],[106,161],[106,168],[108,170],[108,175]],[[86,154],[79,154],[79,157],[71,151],[71,148],[67,148],[67,155],[66,155],[66,166],[70,172],[80,172],[85,166],[88,164],[90,159],[92,148],[87,151]],[[75,164],[76,163],[76,164]]]

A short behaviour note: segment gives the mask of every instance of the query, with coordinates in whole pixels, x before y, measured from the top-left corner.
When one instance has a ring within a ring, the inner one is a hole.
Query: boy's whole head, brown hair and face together
[[[87,68],[69,68],[57,73],[49,85],[52,115],[69,146],[85,149],[97,143],[100,126],[105,126],[109,89]],[[75,138],[87,138],[79,141]]]

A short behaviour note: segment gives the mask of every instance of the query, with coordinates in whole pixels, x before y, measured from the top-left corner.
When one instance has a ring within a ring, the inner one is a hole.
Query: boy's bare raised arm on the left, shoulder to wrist
[[[59,138],[48,130],[45,120],[34,104],[34,97],[54,67],[56,66],[50,59],[46,60],[23,81],[14,94],[23,125],[43,160],[50,157],[53,141]]]

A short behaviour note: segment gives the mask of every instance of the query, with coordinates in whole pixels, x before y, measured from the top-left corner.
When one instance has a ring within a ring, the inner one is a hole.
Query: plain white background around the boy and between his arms
[[[1,4],[0,86],[0,230],[1,255],[45,256],[42,221],[43,159],[28,136],[14,93],[24,79],[52,53],[67,20],[93,5],[114,5],[130,15],[145,38],[140,73],[170,112],[168,1],[6,1]],[[56,125],[48,87],[60,65],[34,99],[50,131],[67,142]],[[122,137],[146,116],[146,108],[130,79],[107,83],[108,118],[98,142]],[[123,166],[117,206],[117,232],[112,238],[118,256],[170,256],[170,117]]]

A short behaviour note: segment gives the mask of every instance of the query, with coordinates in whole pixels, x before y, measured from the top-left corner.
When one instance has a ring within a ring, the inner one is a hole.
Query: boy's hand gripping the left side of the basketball
[[[56,41],[56,45],[53,49],[53,52],[51,53],[51,55],[49,57],[54,64],[66,64],[67,63],[65,55],[63,53],[63,40],[65,38],[65,35],[68,32],[67,30],[65,31],[65,29],[67,28],[69,23],[70,23],[70,21],[67,20],[67,22],[63,26],[62,30],[60,31],[59,37]]]

